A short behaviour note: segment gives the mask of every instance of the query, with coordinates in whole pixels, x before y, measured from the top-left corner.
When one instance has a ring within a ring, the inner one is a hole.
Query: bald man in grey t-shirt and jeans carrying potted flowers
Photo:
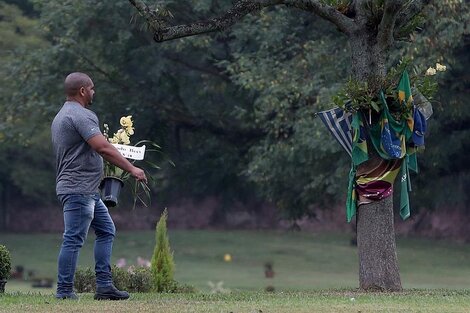
[[[64,85],[67,101],[51,125],[56,192],[63,206],[65,225],[58,258],[56,298],[78,299],[73,292],[73,281],[79,251],[91,227],[96,234],[95,299],[127,299],[129,294],[116,289],[111,277],[111,251],[116,229],[99,195],[102,158],[128,171],[137,180],[146,182],[147,178],[142,169],[132,165],[101,134],[98,117],[87,108],[95,94],[91,78],[84,73],[71,73]]]

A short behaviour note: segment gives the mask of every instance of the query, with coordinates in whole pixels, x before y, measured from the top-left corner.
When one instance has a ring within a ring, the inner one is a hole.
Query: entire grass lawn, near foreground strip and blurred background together
[[[113,261],[150,259],[153,231],[118,232]],[[93,263],[90,234],[80,266]],[[130,301],[57,301],[54,289],[10,280],[0,312],[470,312],[470,245],[425,239],[398,239],[404,292],[364,294],[358,286],[356,247],[347,234],[275,231],[170,231],[176,279],[194,294],[133,294]],[[13,265],[36,277],[56,276],[60,234],[0,234]],[[224,254],[232,256],[224,261]],[[273,263],[274,278],[264,264]],[[227,293],[212,294],[209,283]],[[264,292],[267,286],[274,293]],[[419,288],[419,289],[415,289]],[[228,292],[230,291],[230,292]]]

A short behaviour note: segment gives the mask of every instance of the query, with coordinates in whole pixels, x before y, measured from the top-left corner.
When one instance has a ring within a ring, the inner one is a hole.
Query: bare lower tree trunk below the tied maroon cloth
[[[361,289],[402,289],[393,226],[393,197],[359,207],[357,246]]]

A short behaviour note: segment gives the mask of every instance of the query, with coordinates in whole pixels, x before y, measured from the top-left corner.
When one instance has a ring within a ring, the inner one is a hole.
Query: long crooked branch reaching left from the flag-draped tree
[[[150,24],[154,31],[154,40],[157,42],[221,31],[234,25],[247,14],[275,5],[286,5],[313,12],[334,23],[344,33],[349,33],[354,26],[350,18],[335,8],[322,4],[319,0],[238,0],[220,17],[169,27],[159,26],[161,23],[158,17],[143,0],[129,0],[129,2]]]

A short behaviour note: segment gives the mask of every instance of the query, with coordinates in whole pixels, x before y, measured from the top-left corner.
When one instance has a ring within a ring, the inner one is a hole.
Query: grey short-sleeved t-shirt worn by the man
[[[57,195],[98,193],[103,159],[87,143],[101,134],[96,114],[77,102],[67,101],[52,121],[51,133]]]

